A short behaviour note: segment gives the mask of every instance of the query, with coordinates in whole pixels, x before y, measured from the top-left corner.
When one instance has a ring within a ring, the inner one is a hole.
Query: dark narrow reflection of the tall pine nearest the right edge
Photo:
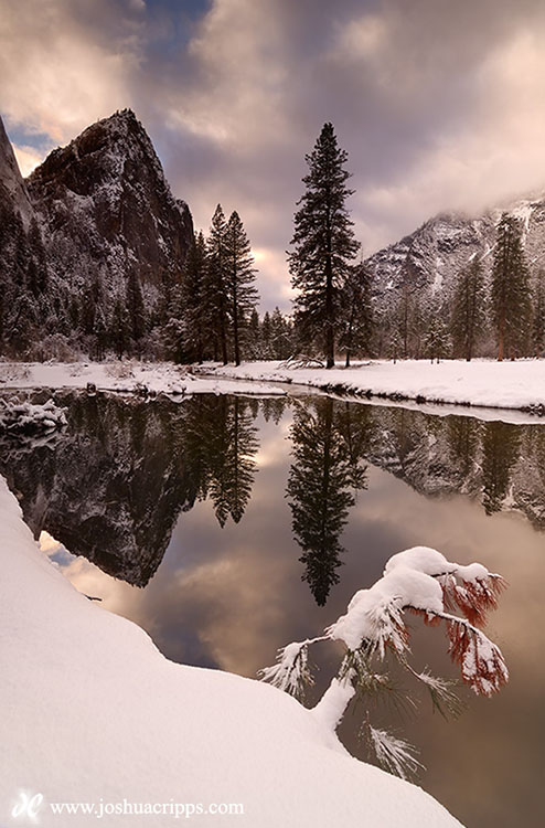
[[[482,502],[488,514],[500,511],[519,459],[521,432],[509,423],[487,423],[482,440]]]

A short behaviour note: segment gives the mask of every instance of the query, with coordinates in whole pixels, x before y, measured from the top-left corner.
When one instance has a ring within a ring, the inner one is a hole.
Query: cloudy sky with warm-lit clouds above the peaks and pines
[[[0,113],[28,172],[132,107],[195,225],[237,209],[264,307],[287,306],[325,120],[366,253],[545,187],[544,38],[543,0],[0,0]]]

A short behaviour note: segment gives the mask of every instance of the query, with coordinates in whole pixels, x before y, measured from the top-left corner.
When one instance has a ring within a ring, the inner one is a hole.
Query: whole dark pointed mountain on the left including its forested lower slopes
[[[162,355],[193,221],[130,109],[26,181],[0,124],[0,353]]]

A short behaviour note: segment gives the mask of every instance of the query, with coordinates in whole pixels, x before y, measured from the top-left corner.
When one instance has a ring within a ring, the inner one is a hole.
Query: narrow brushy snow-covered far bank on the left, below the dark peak
[[[85,389],[191,394],[285,394],[278,385],[229,381],[225,376],[196,376],[172,362],[0,362],[0,389]]]

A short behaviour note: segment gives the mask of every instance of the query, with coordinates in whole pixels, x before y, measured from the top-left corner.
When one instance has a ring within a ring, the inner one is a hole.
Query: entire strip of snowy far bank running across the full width
[[[0,390],[85,389],[88,383],[99,391],[130,393],[145,388],[173,399],[199,393],[281,395],[289,383],[291,392],[312,388],[438,415],[545,424],[545,360],[375,360],[329,371],[286,368],[274,360],[194,369],[172,362],[0,362]]]

